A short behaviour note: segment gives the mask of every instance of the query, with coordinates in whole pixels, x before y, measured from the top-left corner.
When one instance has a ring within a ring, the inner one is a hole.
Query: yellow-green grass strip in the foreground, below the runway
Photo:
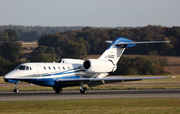
[[[179,114],[180,98],[0,101],[1,114]]]

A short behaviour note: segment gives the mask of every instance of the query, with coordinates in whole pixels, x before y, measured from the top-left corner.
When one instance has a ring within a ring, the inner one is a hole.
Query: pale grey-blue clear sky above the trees
[[[180,26],[180,0],[0,0],[0,25]]]

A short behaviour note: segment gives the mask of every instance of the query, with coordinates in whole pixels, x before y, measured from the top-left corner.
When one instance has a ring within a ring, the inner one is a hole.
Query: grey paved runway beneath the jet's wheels
[[[61,94],[54,91],[0,92],[0,101],[8,100],[60,100],[60,99],[102,99],[102,98],[180,98],[180,89],[153,90],[66,90]]]

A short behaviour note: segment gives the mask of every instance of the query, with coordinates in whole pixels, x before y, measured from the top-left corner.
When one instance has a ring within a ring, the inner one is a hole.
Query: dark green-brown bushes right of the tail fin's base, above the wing
[[[161,64],[160,64],[161,63]],[[163,66],[168,64],[164,59],[155,59],[152,57],[124,57],[118,62],[118,69],[114,74],[123,75],[160,75],[166,74]]]

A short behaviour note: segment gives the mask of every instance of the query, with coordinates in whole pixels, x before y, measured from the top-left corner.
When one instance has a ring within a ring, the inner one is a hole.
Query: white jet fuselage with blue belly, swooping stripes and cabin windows
[[[106,76],[100,73],[88,73],[82,64],[70,63],[23,63],[4,76],[5,79],[25,81],[42,86],[54,86],[57,79],[79,79]],[[65,86],[65,85],[63,85]],[[68,85],[66,85],[68,86]]]

